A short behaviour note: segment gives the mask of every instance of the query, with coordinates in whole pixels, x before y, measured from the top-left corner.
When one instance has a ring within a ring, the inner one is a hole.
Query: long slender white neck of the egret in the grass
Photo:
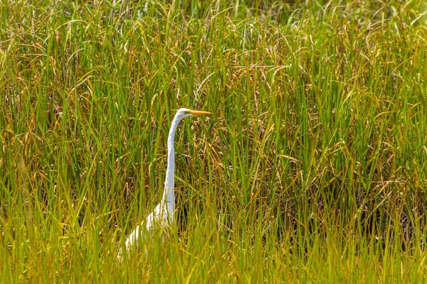
[[[162,201],[167,201],[170,205],[175,207],[175,195],[174,195],[174,175],[175,175],[175,148],[174,138],[176,127],[182,118],[174,117],[172,121],[171,129],[169,130],[169,136],[167,138],[167,170],[166,180],[164,181],[164,192]]]

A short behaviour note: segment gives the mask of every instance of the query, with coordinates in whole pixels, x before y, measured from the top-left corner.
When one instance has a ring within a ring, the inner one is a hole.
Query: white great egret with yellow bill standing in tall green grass
[[[154,226],[159,226],[160,229],[167,229],[174,222],[175,211],[175,196],[174,196],[174,170],[175,170],[175,148],[174,137],[176,127],[179,122],[189,116],[211,114],[209,111],[192,111],[191,109],[178,109],[174,120],[172,121],[169,136],[167,138],[167,170],[166,180],[164,182],[164,191],[162,200],[154,208],[154,212],[148,215],[144,222],[139,224],[135,230],[127,237],[125,245],[129,252],[132,247],[137,248],[139,239],[145,239],[149,236]],[[122,249],[119,250],[117,258],[122,259]]]

